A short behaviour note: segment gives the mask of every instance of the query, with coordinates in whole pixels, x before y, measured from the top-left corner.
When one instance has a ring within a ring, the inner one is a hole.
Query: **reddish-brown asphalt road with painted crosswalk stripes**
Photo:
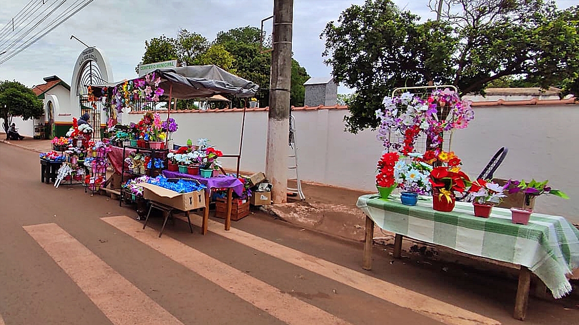
[[[157,238],[118,201],[40,182],[38,154],[0,143],[0,325],[521,324],[516,282],[442,270],[255,213]],[[200,217],[193,216],[196,224]],[[527,324],[577,324],[532,299]]]

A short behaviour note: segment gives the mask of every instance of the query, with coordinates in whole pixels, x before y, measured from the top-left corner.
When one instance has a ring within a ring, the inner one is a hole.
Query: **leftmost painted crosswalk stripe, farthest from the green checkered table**
[[[113,324],[184,325],[57,224],[24,230]]]

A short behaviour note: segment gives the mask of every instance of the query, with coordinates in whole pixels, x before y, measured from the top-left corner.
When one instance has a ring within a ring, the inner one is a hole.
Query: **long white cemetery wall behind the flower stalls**
[[[476,177],[493,154],[506,146],[509,153],[495,173],[498,178],[548,179],[571,197],[540,197],[539,212],[566,216],[579,223],[579,198],[576,161],[579,139],[576,121],[579,105],[489,106],[477,107],[475,120],[452,137],[451,149],[464,162],[464,170]],[[334,186],[375,191],[376,162],[383,151],[376,132],[357,135],[344,132],[347,110],[296,110],[296,141],[299,171],[303,180]],[[123,116],[123,123],[137,122],[141,115]],[[162,115],[166,119],[166,114]],[[185,144],[208,138],[224,154],[239,150],[241,112],[173,113],[179,124],[175,143]],[[247,112],[241,170],[265,171],[267,112]],[[224,160],[228,168],[235,160]],[[288,176],[294,177],[292,172]]]

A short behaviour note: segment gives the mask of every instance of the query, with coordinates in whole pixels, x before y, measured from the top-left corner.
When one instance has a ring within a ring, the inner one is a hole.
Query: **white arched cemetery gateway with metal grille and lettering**
[[[111,65],[97,47],[87,47],[76,59],[71,81],[71,108],[79,117],[89,113],[89,123],[94,128],[94,138],[101,137],[102,127],[106,127],[108,110],[103,110],[101,102],[89,102],[88,86],[113,81]],[[78,107],[78,109],[76,109]],[[101,114],[102,113],[102,114]]]

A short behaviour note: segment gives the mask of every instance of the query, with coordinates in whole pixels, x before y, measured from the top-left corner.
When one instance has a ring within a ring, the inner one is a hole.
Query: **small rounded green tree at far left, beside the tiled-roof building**
[[[41,117],[44,114],[42,101],[36,94],[23,84],[5,80],[0,82],[0,117],[2,127],[8,133],[14,116],[21,116],[23,120]]]

